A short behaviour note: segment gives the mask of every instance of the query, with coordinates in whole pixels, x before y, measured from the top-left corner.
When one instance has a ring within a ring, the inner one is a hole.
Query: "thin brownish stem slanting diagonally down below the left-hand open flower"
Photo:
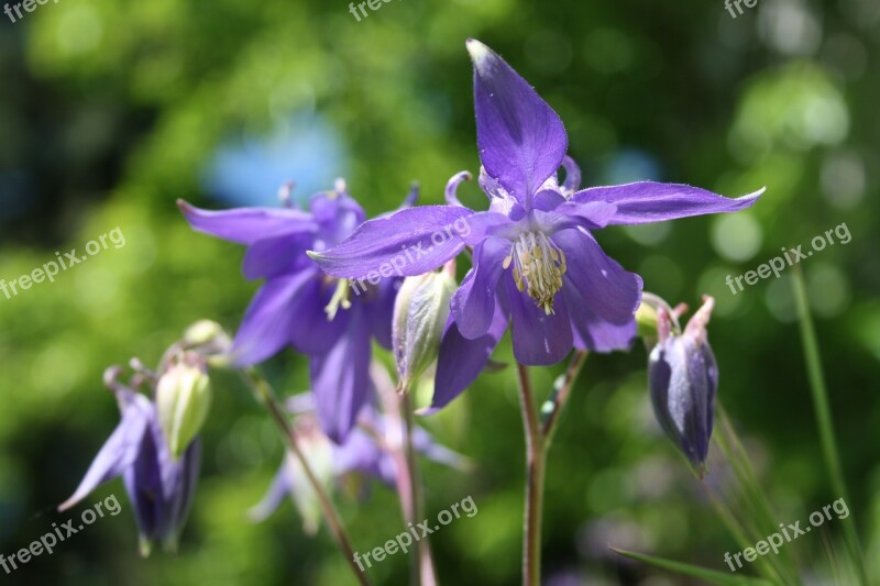
[[[272,420],[278,427],[278,430],[282,432],[285,443],[287,444],[287,449],[296,456],[296,458],[299,461],[299,464],[302,466],[302,471],[306,473],[306,478],[308,478],[309,485],[318,496],[318,502],[320,504],[323,516],[327,519],[327,524],[330,527],[330,531],[333,533],[337,544],[342,551],[342,555],[345,557],[345,561],[349,563],[355,576],[358,577],[358,582],[362,586],[370,586],[370,581],[366,578],[366,574],[364,574],[363,570],[361,570],[360,566],[354,562],[354,548],[351,545],[351,540],[345,531],[345,527],[342,524],[339,513],[333,507],[333,502],[327,496],[327,493],[321,486],[321,483],[318,480],[318,477],[315,476],[315,472],[311,469],[308,460],[306,460],[306,455],[299,449],[299,444],[296,441],[296,435],[294,435],[294,430],[290,427],[290,422],[287,420],[287,416],[278,405],[278,400],[275,398],[275,392],[272,390],[272,386],[270,386],[268,382],[263,378],[263,376],[255,368],[242,371],[241,375],[251,390],[253,390],[256,399],[266,408],[272,417]]]

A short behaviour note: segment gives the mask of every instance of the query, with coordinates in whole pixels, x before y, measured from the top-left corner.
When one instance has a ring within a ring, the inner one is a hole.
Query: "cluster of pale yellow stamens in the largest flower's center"
[[[543,232],[524,232],[514,241],[504,268],[514,265],[516,288],[527,291],[548,316],[553,312],[553,297],[562,288],[565,254]]]

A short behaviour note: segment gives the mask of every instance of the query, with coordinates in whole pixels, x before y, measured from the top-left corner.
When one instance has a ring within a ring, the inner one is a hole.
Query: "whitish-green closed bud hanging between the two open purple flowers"
[[[407,277],[394,303],[392,343],[400,389],[413,383],[436,360],[449,318],[449,299],[455,279],[446,269]]]

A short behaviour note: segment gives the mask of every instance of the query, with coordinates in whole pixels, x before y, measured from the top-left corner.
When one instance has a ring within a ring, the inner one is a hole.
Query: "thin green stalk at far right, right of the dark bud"
[[[825,465],[828,468],[832,489],[839,498],[843,498],[845,502],[851,505],[840,466],[840,452],[837,449],[837,440],[834,435],[834,423],[832,422],[832,410],[828,402],[828,389],[825,386],[825,375],[822,369],[822,357],[816,340],[816,331],[813,328],[813,320],[810,316],[806,287],[804,286],[803,273],[800,266],[794,267],[792,284],[794,287],[794,302],[798,306],[798,319],[801,325],[801,340],[803,342],[804,358],[806,361],[806,374],[807,378],[810,378],[813,408],[816,411],[816,423],[822,442],[822,453],[825,458]],[[865,568],[865,560],[861,556],[861,550],[859,548],[858,531],[856,530],[856,523],[851,516],[844,519],[844,538],[853,562],[858,570],[861,584],[870,584],[868,572]]]

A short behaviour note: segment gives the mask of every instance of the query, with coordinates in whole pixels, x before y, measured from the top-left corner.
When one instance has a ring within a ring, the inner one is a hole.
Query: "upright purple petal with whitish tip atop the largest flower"
[[[474,108],[480,159],[486,173],[526,209],[562,163],[568,136],[562,121],[519,74],[473,38]]]

